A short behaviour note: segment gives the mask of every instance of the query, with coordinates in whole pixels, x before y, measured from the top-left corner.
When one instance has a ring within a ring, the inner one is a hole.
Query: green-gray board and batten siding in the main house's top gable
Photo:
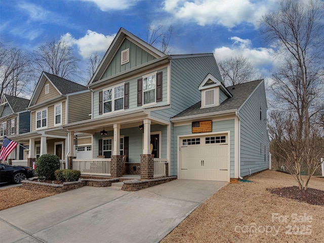
[[[121,65],[121,51],[129,48],[129,62]],[[125,38],[123,43],[120,45],[116,54],[109,63],[107,69],[103,73],[101,79],[115,75],[117,73],[126,71],[128,69],[139,66],[143,63],[152,61],[155,59],[154,56],[144,51],[142,48],[131,42],[129,39]]]

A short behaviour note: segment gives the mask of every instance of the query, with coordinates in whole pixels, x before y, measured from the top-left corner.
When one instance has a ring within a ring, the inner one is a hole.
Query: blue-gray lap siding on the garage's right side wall
[[[260,104],[262,116],[260,119]],[[264,83],[256,88],[252,96],[239,110],[240,118],[240,176],[269,168],[269,137],[267,132],[267,103]],[[262,145],[261,145],[262,144]],[[266,146],[266,159],[264,159]]]

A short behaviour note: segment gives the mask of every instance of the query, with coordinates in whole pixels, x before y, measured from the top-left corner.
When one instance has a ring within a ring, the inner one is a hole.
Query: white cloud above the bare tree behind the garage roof
[[[214,50],[217,62],[242,55],[251,62],[256,70],[259,70],[265,76],[268,76],[268,70],[264,69],[265,67],[276,66],[273,49],[264,47],[253,48],[250,39],[241,39],[237,36],[233,36],[230,39],[233,41],[231,47],[221,47]]]

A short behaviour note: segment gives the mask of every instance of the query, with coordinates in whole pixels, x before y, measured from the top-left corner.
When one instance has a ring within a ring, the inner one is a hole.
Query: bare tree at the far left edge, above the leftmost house
[[[26,95],[26,84],[31,78],[31,62],[18,48],[4,48],[0,45],[0,97],[3,94]]]

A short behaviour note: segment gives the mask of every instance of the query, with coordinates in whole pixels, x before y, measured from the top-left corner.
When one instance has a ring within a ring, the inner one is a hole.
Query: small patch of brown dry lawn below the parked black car
[[[33,191],[23,189],[21,186],[9,187],[0,190],[0,210],[9,209],[37,199],[55,195],[52,192]]]

